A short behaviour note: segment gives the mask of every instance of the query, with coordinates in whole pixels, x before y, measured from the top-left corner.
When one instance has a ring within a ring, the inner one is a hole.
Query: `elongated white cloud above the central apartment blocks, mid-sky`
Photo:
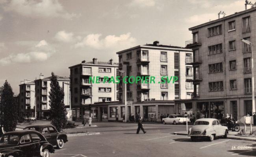
[[[95,49],[104,48],[127,48],[133,46],[136,42],[131,33],[122,34],[119,37],[115,35],[108,35],[100,39],[101,34],[89,34],[83,38],[82,41],[75,44],[75,48],[89,46]]]

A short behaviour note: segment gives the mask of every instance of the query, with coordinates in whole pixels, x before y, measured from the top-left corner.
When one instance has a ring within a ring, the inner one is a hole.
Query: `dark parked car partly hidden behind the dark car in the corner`
[[[64,143],[68,141],[66,134],[59,133],[57,129],[50,124],[28,126],[25,127],[24,130],[36,130],[42,133],[50,144],[57,146],[59,149],[63,148]]]

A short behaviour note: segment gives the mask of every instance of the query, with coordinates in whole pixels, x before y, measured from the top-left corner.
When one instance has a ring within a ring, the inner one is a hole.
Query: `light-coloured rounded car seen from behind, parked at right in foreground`
[[[188,131],[188,136],[191,137],[191,141],[195,142],[199,137],[207,137],[210,141],[213,141],[215,137],[227,138],[228,127],[221,126],[219,120],[214,118],[201,118],[195,121]]]

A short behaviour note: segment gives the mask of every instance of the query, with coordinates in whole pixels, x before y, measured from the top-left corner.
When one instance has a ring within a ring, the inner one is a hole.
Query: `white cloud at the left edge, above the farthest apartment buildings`
[[[48,46],[45,40],[40,41],[30,49],[32,50],[30,52],[10,54],[5,58],[0,59],[0,65],[4,66],[12,63],[35,63],[46,61],[55,52],[51,46]]]

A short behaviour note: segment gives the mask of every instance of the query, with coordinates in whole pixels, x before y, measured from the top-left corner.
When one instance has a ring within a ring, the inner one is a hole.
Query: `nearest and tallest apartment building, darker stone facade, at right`
[[[193,65],[194,92],[191,100],[176,101],[177,106],[186,104],[185,111],[192,106],[198,118],[221,119],[229,113],[239,120],[252,111],[252,50],[241,39],[255,43],[255,21],[252,7],[189,28],[193,43],[187,48],[193,49],[193,58],[186,64]]]

